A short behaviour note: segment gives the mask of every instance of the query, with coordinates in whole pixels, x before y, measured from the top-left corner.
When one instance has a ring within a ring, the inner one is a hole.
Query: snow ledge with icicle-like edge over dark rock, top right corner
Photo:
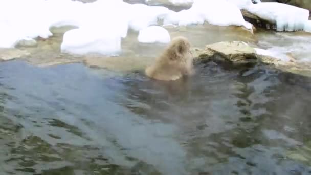
[[[308,30],[305,26],[308,26],[309,11],[306,9],[275,2],[251,4],[244,9],[263,20],[276,24],[277,31]]]

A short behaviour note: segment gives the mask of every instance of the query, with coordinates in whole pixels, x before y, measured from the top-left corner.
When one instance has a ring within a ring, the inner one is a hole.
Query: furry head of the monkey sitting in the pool
[[[174,37],[167,48],[167,55],[170,60],[186,61],[192,57],[190,42],[186,37]]]

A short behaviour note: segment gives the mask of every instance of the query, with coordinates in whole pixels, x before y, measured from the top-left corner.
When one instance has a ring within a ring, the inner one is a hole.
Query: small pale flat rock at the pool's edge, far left
[[[7,49],[7,48],[1,48],[0,49],[0,61],[9,61],[14,58],[21,58],[21,57],[26,57],[29,56],[30,53],[24,50],[19,50],[19,49]]]

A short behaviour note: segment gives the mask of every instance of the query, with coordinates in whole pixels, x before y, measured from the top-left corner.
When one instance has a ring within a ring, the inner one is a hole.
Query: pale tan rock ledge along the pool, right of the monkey
[[[258,54],[256,50],[242,41],[224,41],[206,45],[205,49],[192,48],[197,61],[229,62],[232,65],[267,64],[275,69],[297,75],[311,77],[311,63],[302,63],[291,58],[284,61],[273,56]]]

